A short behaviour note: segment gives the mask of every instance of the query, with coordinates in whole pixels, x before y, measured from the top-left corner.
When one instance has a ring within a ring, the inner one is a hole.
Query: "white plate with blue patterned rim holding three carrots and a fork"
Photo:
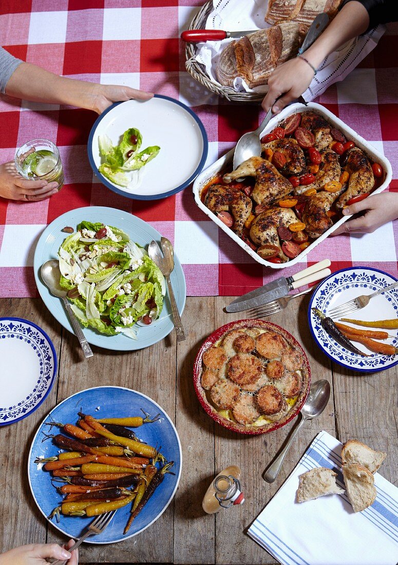
[[[349,267],[336,271],[317,286],[308,306],[308,323],[312,337],[332,361],[342,365],[351,371],[362,373],[374,373],[394,367],[398,363],[398,357],[380,355],[370,351],[365,345],[355,343],[364,353],[370,357],[360,357],[348,351],[338,344],[333,337],[322,328],[320,319],[311,308],[319,308],[323,314],[336,306],[342,305],[349,300],[357,298],[361,294],[372,294],[384,286],[396,282],[395,277],[368,267]],[[388,290],[371,299],[368,306],[361,308],[343,318],[354,320],[388,320],[398,316],[398,288]],[[336,318],[334,321],[338,321]],[[347,323],[347,325],[349,325]],[[370,329],[370,328],[369,328]],[[398,346],[398,331],[388,330],[391,337],[386,343]]]

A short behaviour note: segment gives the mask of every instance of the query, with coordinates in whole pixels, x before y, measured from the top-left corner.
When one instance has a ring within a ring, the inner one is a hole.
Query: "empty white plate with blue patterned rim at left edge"
[[[53,342],[38,325],[23,318],[0,318],[0,425],[37,410],[56,379]]]

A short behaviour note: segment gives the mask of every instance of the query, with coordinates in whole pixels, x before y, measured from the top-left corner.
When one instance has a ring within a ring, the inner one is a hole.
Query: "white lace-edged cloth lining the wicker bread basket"
[[[264,0],[245,0],[243,10],[242,0],[219,0],[214,2],[215,8],[209,14],[205,27],[206,29],[225,29],[229,32],[265,29],[270,27],[264,20],[267,5],[268,2],[264,2]],[[378,27],[371,29],[369,33],[347,42],[340,49],[327,56],[309,88],[303,94],[305,101],[313,100],[322,94],[328,86],[343,80],[374,49],[384,31],[386,31],[386,27],[378,25]],[[196,46],[196,61],[205,66],[209,77],[217,84],[220,84],[215,72],[218,56],[230,41],[233,40],[207,41],[198,43]],[[238,77],[234,81],[234,89],[237,92],[266,93],[268,85],[250,89],[246,82]]]

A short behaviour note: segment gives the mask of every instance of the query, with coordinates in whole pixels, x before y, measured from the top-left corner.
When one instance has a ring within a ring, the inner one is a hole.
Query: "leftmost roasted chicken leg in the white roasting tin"
[[[212,212],[230,211],[234,217],[233,231],[242,235],[244,223],[252,211],[251,199],[241,190],[214,184],[208,190],[205,205]]]

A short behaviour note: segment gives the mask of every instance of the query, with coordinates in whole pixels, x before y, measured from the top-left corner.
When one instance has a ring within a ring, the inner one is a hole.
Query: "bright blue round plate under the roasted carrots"
[[[76,423],[77,412],[80,409],[97,418],[122,418],[123,416],[141,415],[141,408],[151,416],[160,414],[160,419],[152,424],[144,424],[140,428],[136,428],[137,436],[140,440],[154,447],[156,444],[161,445],[161,453],[164,457],[168,461],[174,461],[170,471],[176,474],[167,473],[165,475],[163,482],[155,490],[146,506],[133,520],[128,534],[124,536],[123,529],[128,521],[131,505],[117,510],[110,525],[98,536],[86,540],[88,544],[112,544],[127,540],[153,524],[167,509],[180,481],[182,463],[180,438],[174,424],[166,412],[145,394],[121,386],[98,386],[73,394],[58,406],[55,406],[42,421],[33,438],[28,459],[29,485],[38,509],[48,519],[48,516],[62,500],[55,489],[55,486],[60,486],[62,483],[53,486],[50,473],[42,470],[42,464],[34,463],[37,457],[47,458],[59,454],[59,447],[53,444],[51,440],[42,442],[44,437],[42,432],[49,432],[49,426],[45,425],[45,422],[53,418],[57,422]],[[77,538],[82,535],[93,518],[60,515],[59,524],[56,523],[55,518],[49,521],[65,536]]]

